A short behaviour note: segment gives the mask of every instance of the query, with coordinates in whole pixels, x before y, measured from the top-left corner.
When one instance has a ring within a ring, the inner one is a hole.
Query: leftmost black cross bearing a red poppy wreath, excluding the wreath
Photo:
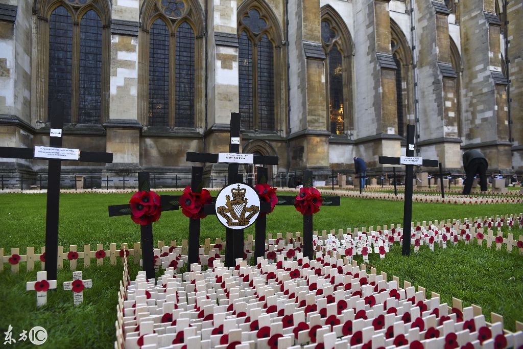
[[[151,185],[149,183],[149,172],[138,172],[138,190],[140,192],[149,192]],[[173,211],[178,209],[178,201],[163,200],[160,196],[162,211]],[[165,202],[164,202],[165,201]],[[113,205],[109,206],[109,217],[131,215],[131,205]],[[148,223],[140,226],[141,243],[142,243],[142,267],[148,279],[155,278],[154,271],[154,247],[153,247],[153,224]],[[137,258],[137,256],[135,256]]]

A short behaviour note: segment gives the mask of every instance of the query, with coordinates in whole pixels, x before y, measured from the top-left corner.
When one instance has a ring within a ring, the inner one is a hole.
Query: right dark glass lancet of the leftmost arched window
[[[100,123],[101,20],[89,10],[80,24],[79,123]]]

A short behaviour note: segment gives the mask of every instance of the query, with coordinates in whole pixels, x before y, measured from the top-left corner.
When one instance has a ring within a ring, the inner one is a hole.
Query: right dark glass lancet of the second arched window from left
[[[195,33],[184,22],[176,30],[175,126],[195,125]]]

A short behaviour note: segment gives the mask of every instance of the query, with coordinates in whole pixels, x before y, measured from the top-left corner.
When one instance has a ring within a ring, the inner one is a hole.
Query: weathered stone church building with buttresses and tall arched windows
[[[405,153],[407,123],[446,171],[471,148],[523,171],[523,0],[0,3],[0,146],[49,144],[62,100],[63,147],[114,154],[64,174],[188,174],[187,151],[229,149],[231,112],[243,152],[279,156],[271,176],[350,172],[354,156],[390,171],[378,156]],[[0,174],[34,180],[47,161]]]

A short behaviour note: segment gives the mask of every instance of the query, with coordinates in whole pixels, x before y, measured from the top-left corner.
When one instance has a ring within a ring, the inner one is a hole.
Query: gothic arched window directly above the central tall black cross
[[[240,113],[248,130],[275,129],[274,44],[268,21],[256,8],[241,17],[238,61]]]

